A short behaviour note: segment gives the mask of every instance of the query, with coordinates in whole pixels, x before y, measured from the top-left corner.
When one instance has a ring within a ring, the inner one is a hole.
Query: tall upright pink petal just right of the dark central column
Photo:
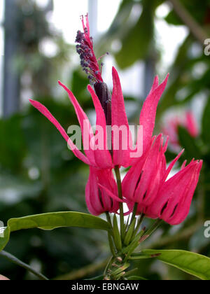
[[[125,104],[123,98],[123,92],[120,85],[120,78],[118,72],[113,67],[113,94],[111,99],[111,124],[112,127],[124,127],[124,132],[119,134],[119,150],[114,150],[116,137],[113,135],[113,164],[123,167],[130,165],[130,146],[132,146],[132,135],[127,121],[125,113]],[[123,138],[122,138],[123,137]],[[130,144],[129,144],[130,143]],[[123,146],[123,145],[126,146]],[[130,145],[130,146],[127,146]],[[125,149],[125,150],[123,150]]]

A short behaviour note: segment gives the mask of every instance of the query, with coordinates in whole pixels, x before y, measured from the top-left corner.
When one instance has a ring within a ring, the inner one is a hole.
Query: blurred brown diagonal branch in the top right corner
[[[188,12],[188,10],[183,6],[183,4],[179,0],[169,0],[174,6],[174,11],[177,15],[179,15],[179,18],[183,21],[183,23],[190,29],[191,33],[195,38],[197,38],[197,41],[200,41],[202,45],[204,45],[204,40],[207,39],[207,34],[202,29],[200,24],[193,18],[192,15]],[[202,5],[202,4],[201,4]]]

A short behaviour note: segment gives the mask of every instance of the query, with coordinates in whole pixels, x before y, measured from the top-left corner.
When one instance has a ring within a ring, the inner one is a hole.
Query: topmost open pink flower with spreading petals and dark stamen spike
[[[106,84],[103,82],[101,70],[99,70],[99,60],[97,60],[94,55],[87,15],[86,24],[83,17],[82,23],[84,32],[82,33],[81,31],[78,31],[76,37],[76,42],[78,45],[76,48],[80,55],[81,65],[83,66],[85,72],[89,74],[91,82],[94,81],[94,90],[98,94],[97,95],[94,92],[90,85],[87,86],[87,90],[90,92],[92,101],[94,103],[94,108],[97,115],[97,125],[103,130],[102,137],[104,140],[102,148],[97,148],[97,139],[94,136],[90,122],[83,109],[80,107],[76,97],[74,97],[71,90],[69,90],[61,82],[59,82],[59,85],[61,85],[69,94],[69,99],[76,111],[78,122],[80,123],[80,128],[83,135],[83,146],[86,147],[84,148],[85,154],[78,150],[75,144],[73,144],[73,141],[71,141],[69,136],[66,134],[63,127],[52,116],[50,111],[45,108],[45,106],[34,100],[30,100],[30,102],[36,109],[38,109],[38,111],[48,118],[48,120],[50,120],[50,122],[55,125],[55,127],[57,127],[57,130],[59,130],[59,132],[62,134],[62,137],[64,137],[64,139],[68,142],[69,147],[71,148],[71,151],[73,151],[74,155],[85,162],[85,164],[92,167],[97,167],[99,169],[109,169],[116,166],[129,167],[134,162],[137,162],[138,158],[131,157],[131,153],[136,152],[137,148],[135,150],[132,148],[132,135],[130,133],[127,116],[125,113],[125,104],[122,88],[120,85],[120,78],[116,69],[113,68],[113,93],[111,96]],[[156,109],[162,92],[165,90],[167,85],[167,79],[168,76],[164,82],[159,85],[158,77],[155,78],[151,92],[148,94],[146,102],[144,102],[144,106],[141,110],[139,123],[142,125],[144,130],[144,152],[146,152],[148,146],[151,144],[151,138],[155,125]],[[125,132],[123,132],[123,135],[121,135],[119,132],[119,139],[116,137],[114,132],[112,132],[112,136],[109,136],[108,132],[106,131],[106,125],[111,125],[113,128],[118,127],[118,130],[120,127],[125,127]],[[110,141],[112,141],[111,152],[108,150]],[[126,142],[127,146],[125,146]],[[139,134],[137,139],[137,146],[139,145],[139,142],[141,142],[141,134]],[[141,155],[138,155],[138,157],[140,156]]]

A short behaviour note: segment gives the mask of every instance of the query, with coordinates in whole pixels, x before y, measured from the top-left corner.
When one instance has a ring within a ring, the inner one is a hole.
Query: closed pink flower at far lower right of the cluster
[[[193,160],[160,186],[153,204],[148,207],[147,215],[161,218],[170,225],[182,223],[190,211],[195,188],[202,169],[202,160]]]

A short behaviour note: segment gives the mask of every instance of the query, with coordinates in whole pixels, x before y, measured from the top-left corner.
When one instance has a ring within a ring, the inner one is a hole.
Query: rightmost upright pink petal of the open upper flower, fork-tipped
[[[153,135],[158,102],[160,100],[160,97],[162,96],[162,93],[165,90],[168,78],[169,75],[167,75],[162,84],[160,84],[156,88],[155,86],[153,87],[155,88],[155,90],[151,91],[150,94],[148,94],[148,97],[146,98],[146,101],[144,102],[144,105],[141,110],[139,125],[143,126],[144,152],[148,148],[148,144],[150,143],[151,137]],[[154,85],[157,85],[157,82],[154,82]]]

